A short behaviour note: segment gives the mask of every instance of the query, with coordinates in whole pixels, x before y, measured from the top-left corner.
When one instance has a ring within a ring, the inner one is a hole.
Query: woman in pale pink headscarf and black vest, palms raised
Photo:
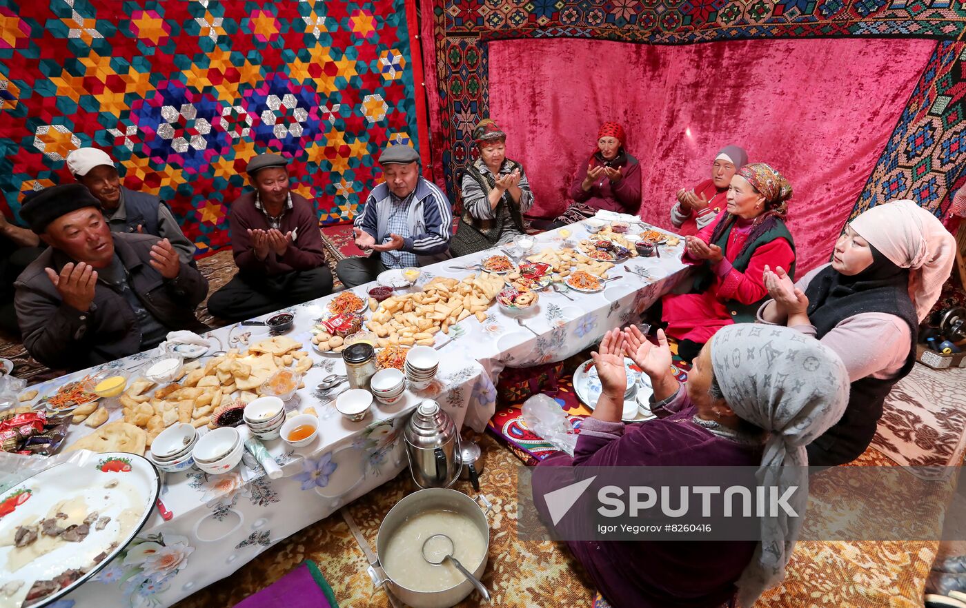
[[[920,321],[950,276],[955,238],[912,201],[872,207],[838,237],[832,263],[797,284],[765,267],[772,300],[758,321],[814,336],[845,362],[851,399],[838,424],[809,446],[810,463],[851,462],[875,435],[893,385],[912,371]]]

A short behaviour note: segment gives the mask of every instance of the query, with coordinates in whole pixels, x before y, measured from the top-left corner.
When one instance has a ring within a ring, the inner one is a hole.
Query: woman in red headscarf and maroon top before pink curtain
[[[548,228],[580,222],[600,209],[637,215],[640,208],[640,164],[624,149],[627,136],[617,123],[604,123],[597,147],[570,184],[573,203]],[[543,228],[538,222],[534,226]]]

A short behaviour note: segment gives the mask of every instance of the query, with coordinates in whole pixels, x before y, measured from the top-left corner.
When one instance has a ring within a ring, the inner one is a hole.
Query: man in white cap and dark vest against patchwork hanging
[[[100,201],[111,232],[167,238],[181,261],[191,263],[194,245],[182,232],[171,210],[155,195],[121,185],[114,159],[107,152],[78,148],[67,155],[67,168],[74,180],[87,186]]]

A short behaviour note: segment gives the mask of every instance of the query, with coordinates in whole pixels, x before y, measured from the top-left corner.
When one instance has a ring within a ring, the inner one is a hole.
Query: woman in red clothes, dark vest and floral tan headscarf
[[[698,266],[691,292],[666,295],[663,318],[678,354],[691,361],[716,331],[753,322],[768,294],[766,265],[795,271],[795,243],[784,224],[791,184],[763,162],[731,178],[727,207],[696,236],[686,236],[682,262]]]

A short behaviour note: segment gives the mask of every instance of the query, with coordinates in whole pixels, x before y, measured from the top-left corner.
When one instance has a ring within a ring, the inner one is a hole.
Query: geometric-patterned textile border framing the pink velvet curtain
[[[487,41],[586,38],[688,44],[768,38],[937,40],[853,215],[909,198],[942,216],[966,182],[966,4],[951,0],[422,0],[433,14],[442,167],[470,160],[471,130],[489,116]]]

